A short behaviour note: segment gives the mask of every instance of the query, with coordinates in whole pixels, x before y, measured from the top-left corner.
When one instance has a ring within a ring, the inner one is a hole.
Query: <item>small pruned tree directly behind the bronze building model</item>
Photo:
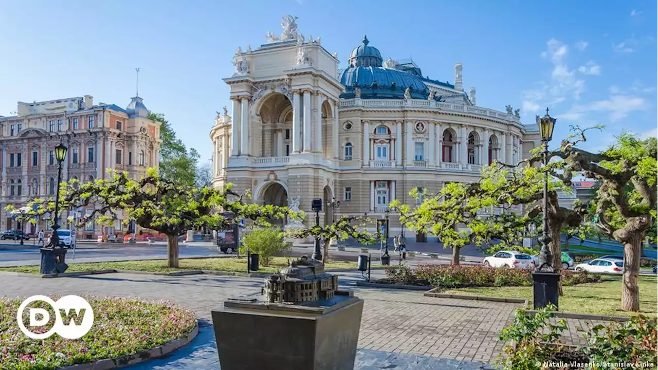
[[[310,226],[307,228],[290,228],[286,230],[286,236],[290,238],[320,238],[322,242],[322,261],[329,260],[329,245],[332,240],[344,241],[353,238],[361,244],[372,244],[376,238],[367,231],[368,224],[372,220],[365,216],[341,216],[330,225]]]

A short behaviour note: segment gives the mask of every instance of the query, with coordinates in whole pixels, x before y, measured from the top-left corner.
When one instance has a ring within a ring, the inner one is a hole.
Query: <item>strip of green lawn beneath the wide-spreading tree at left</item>
[[[259,273],[274,273],[288,265],[290,257],[272,257],[270,266],[261,265]],[[80,273],[93,270],[132,270],[132,271],[149,271],[152,273],[170,273],[175,271],[186,270],[211,270],[211,271],[229,271],[229,272],[247,272],[246,257],[214,257],[199,259],[180,259],[180,268],[174,269],[166,267],[164,259],[147,259],[144,261],[120,261],[120,262],[96,262],[96,263],[70,263],[67,273]],[[329,261],[324,265],[327,270],[330,269],[357,269],[356,262]],[[14,273],[38,274],[39,266],[20,266],[20,267],[3,267],[0,271],[13,271]]]

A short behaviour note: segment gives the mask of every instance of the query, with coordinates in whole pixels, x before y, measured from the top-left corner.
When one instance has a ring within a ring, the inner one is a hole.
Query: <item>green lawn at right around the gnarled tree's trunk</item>
[[[640,309],[651,317],[658,317],[658,278],[640,277]],[[564,286],[559,298],[560,311],[592,315],[628,316],[620,311],[621,277],[604,276],[603,282]],[[532,304],[532,286],[501,286],[443,290],[446,294],[528,299]]]

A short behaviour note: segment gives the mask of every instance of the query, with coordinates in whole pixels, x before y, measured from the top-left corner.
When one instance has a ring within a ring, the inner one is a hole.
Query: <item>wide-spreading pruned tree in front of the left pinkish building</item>
[[[218,230],[251,219],[255,223],[269,225],[268,220],[280,219],[297,213],[287,207],[248,203],[248,194],[236,194],[232,186],[223,190],[197,188],[178,184],[158,176],[155,169],[139,180],[130,178],[128,172],[110,172],[109,178],[80,184],[71,180],[62,184],[60,209],[86,209],[88,215],[78,220],[84,225],[90,220],[111,225],[122,213],[124,223],[156,230],[167,236],[168,267],[178,267],[178,236],[186,230],[207,226]],[[28,203],[26,217],[53,213],[53,199],[34,199]],[[224,217],[217,209],[232,212],[235,217]],[[89,212],[89,210],[91,210]]]

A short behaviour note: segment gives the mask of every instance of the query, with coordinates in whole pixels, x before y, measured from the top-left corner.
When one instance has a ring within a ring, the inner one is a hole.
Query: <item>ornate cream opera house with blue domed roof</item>
[[[210,134],[214,186],[299,204],[309,221],[314,198],[340,200],[342,215],[382,217],[393,199],[414,204],[413,189],[476,181],[484,165],[517,163],[540,146],[518,109],[476,105],[461,63],[454,84],[433,80],[411,60],[384,61],[364,37],[339,69],[338,55],[304,38],[295,18],[284,17],[282,36],[238,48],[236,72],[224,79],[232,115],[218,113]]]

